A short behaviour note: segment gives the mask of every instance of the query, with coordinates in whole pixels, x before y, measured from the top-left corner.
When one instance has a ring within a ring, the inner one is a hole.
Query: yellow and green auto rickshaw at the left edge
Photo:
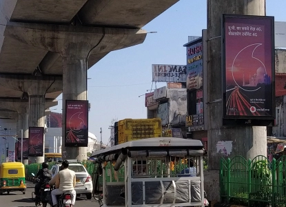
[[[4,162],[0,166],[0,195],[11,191],[25,194],[25,168],[21,162]]]

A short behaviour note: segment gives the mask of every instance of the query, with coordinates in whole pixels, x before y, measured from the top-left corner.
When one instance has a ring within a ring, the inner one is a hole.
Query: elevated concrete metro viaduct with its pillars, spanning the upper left
[[[87,99],[87,69],[143,43],[141,28],[177,1],[0,0],[1,116],[17,119],[17,112],[28,133],[44,126],[46,103],[63,92],[65,117],[65,99]],[[62,151],[63,159],[86,159],[86,148]]]

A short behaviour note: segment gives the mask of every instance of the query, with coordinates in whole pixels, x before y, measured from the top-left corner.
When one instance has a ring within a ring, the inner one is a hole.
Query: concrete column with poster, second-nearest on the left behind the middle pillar
[[[29,126],[45,127],[45,96],[29,95]],[[43,139],[43,153],[45,153],[45,137]],[[44,156],[36,157],[37,163],[45,161]]]

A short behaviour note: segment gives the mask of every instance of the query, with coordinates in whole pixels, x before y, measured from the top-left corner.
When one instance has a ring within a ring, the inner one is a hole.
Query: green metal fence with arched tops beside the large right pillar
[[[221,159],[221,201],[244,206],[286,207],[286,156]]]

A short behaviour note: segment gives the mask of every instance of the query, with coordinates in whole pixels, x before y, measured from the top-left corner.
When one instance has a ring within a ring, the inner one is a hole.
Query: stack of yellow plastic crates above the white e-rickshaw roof
[[[138,139],[162,137],[160,118],[123,119],[118,121],[119,144]]]

